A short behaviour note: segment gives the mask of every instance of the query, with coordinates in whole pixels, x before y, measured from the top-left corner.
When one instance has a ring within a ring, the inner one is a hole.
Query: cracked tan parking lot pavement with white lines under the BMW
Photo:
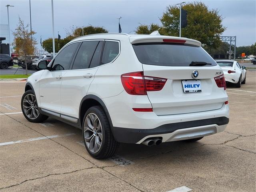
[[[256,71],[247,71],[241,88],[227,88],[225,132],[195,143],[120,144],[107,160],[86,152],[79,129],[52,118],[28,122],[20,108],[24,84],[0,82],[1,192],[255,192]]]

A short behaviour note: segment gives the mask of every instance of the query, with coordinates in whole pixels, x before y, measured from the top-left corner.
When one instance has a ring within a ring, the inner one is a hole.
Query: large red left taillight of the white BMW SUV
[[[143,72],[132,72],[121,75],[124,89],[131,95],[146,95],[147,91],[160,91],[167,79],[144,76]]]

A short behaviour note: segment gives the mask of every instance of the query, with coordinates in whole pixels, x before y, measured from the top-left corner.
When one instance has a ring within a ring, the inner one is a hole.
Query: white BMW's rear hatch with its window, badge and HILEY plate
[[[167,79],[162,90],[147,92],[157,115],[216,110],[227,100],[214,79],[223,75],[221,68],[201,46],[184,42],[132,45],[144,76]]]

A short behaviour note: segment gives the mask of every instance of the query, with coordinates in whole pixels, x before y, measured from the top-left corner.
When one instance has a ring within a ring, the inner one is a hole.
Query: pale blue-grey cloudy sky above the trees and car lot
[[[74,26],[103,26],[109,32],[118,32],[118,19],[122,32],[134,34],[140,24],[160,23],[159,18],[168,5],[180,0],[53,0],[55,38],[64,38]],[[193,2],[193,1],[186,1]],[[227,29],[223,36],[236,36],[237,46],[256,42],[256,0],[201,0],[209,9],[218,9]],[[30,24],[29,0],[0,0],[0,24],[8,24],[6,5],[9,7],[11,41],[18,16]],[[42,41],[52,37],[51,0],[31,0],[32,30],[40,47]]]

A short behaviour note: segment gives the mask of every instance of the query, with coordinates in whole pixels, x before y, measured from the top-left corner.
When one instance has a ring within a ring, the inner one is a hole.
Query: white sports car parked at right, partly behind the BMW
[[[240,66],[237,61],[233,60],[217,60],[218,65],[222,68],[225,81],[235,84],[236,87],[241,87],[241,84],[246,83],[245,66]]]

